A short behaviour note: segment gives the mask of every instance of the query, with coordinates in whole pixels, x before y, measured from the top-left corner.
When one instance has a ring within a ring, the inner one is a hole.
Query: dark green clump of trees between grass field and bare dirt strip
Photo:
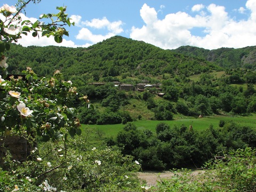
[[[149,130],[139,130],[127,123],[115,139],[108,143],[117,145],[123,154],[139,159],[142,169],[169,170],[181,167],[201,167],[215,154],[230,150],[256,147],[256,131],[234,122],[220,122],[221,127],[210,126],[204,131],[181,125],[170,127],[166,123],[156,126],[156,135]]]

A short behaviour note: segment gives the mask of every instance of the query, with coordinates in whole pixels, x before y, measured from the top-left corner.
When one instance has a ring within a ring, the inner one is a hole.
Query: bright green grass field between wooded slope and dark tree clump
[[[180,126],[185,124],[187,127],[189,125],[193,126],[194,130],[205,130],[211,124],[213,127],[218,127],[220,120],[224,121],[234,121],[243,126],[251,126],[256,129],[256,114],[250,116],[209,116],[203,118],[177,118],[173,121],[151,121],[151,120],[140,120],[132,122],[134,123],[139,130],[148,129],[155,133],[156,125],[158,123],[164,122],[169,124],[171,127]],[[115,137],[117,133],[123,129],[125,125],[115,124],[115,125],[83,125],[82,128],[89,128],[103,134],[104,137]]]

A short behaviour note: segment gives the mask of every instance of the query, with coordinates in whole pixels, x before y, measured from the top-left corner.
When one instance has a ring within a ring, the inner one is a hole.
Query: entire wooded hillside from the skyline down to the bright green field
[[[110,124],[255,113],[255,51],[190,46],[163,50],[115,36],[87,48],[13,44],[7,55],[10,74],[21,74],[27,66],[38,76],[60,70],[94,106],[79,108],[82,123]],[[135,91],[121,89],[128,84]],[[150,87],[137,89],[138,84]]]

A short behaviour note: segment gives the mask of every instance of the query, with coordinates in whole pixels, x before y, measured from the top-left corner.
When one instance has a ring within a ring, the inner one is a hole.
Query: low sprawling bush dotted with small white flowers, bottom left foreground
[[[34,153],[33,153],[34,152]],[[33,161],[5,157],[0,191],[125,191],[139,186],[140,164],[117,148],[93,147],[83,136],[69,142],[47,141],[32,151]]]

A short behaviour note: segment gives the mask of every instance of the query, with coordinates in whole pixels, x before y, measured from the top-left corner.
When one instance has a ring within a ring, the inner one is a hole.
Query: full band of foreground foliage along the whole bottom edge
[[[6,157],[9,170],[0,169],[0,191],[254,191],[256,149],[232,151],[205,164],[198,174],[182,169],[171,179],[143,185],[131,156],[117,148],[92,147],[86,138],[44,142],[34,151],[35,161],[19,163]],[[72,145],[71,145],[72,143]],[[68,150],[66,151],[65,149]],[[39,153],[40,151],[41,153]],[[10,156],[9,156],[10,157]]]

